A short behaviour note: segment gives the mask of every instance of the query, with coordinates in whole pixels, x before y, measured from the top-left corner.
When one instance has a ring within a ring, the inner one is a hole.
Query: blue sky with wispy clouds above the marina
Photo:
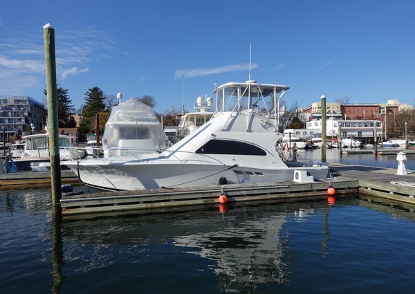
[[[287,84],[288,106],[398,99],[415,104],[414,1],[58,1],[0,3],[0,95],[44,102],[43,26],[75,107],[99,86],[156,111],[211,95],[216,80]]]

